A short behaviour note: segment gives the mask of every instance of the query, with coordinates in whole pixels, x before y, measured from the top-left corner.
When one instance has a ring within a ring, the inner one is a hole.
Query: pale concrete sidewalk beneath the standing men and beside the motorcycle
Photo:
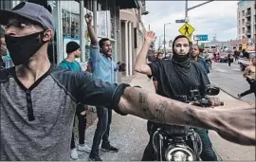
[[[153,81],[149,81],[145,75],[137,74],[130,84],[139,85],[148,91],[155,91]],[[225,105],[230,106],[231,108],[239,105],[248,105],[246,102],[234,99],[224,92],[221,92],[218,97],[225,102]],[[92,145],[96,125],[97,120],[85,132],[85,141],[90,147]],[[210,135],[211,134],[216,133],[212,132]],[[148,140],[149,135],[146,132],[146,120],[134,116],[121,117],[113,111],[110,141],[113,146],[119,148],[119,153],[100,152],[101,158],[104,161],[140,161]],[[78,153],[79,160],[88,160],[88,153]]]

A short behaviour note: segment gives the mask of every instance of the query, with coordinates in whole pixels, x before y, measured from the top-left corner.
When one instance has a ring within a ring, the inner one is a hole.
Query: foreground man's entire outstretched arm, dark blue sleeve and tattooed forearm
[[[70,74],[72,73],[72,74]],[[83,72],[65,71],[75,90],[78,102],[114,109],[120,115],[134,115],[164,124],[189,125],[215,130],[227,140],[243,145],[255,145],[255,107],[238,109],[201,108],[168,99],[127,84],[111,84]]]

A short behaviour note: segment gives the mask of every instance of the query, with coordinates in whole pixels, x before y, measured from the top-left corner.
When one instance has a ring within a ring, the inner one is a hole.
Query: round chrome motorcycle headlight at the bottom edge
[[[165,157],[167,161],[193,161],[194,156],[191,149],[187,147],[170,147],[166,153]]]

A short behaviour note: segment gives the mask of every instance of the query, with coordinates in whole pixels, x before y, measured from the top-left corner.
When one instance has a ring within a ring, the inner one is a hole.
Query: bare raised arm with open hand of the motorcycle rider
[[[135,63],[135,70],[138,73],[152,75],[151,68],[147,64],[147,53],[153,42],[155,42],[155,33],[153,31],[146,32],[144,45],[140,49]]]

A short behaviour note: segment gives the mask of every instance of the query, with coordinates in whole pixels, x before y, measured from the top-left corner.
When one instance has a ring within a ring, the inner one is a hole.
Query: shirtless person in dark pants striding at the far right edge
[[[238,94],[238,99],[241,99],[251,93],[254,93],[256,98],[256,58],[253,58],[251,63],[247,66],[244,72],[244,77],[247,79],[249,84],[249,90]]]

